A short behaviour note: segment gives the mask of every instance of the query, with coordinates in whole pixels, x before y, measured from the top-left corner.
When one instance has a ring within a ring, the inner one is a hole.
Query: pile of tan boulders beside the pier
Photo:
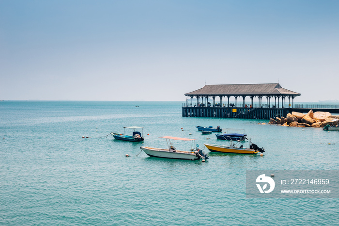
[[[338,125],[338,121],[332,121],[333,119],[339,119],[339,115],[332,115],[329,112],[313,113],[312,110],[309,110],[307,114],[292,112],[288,113],[286,117],[276,117],[276,119],[271,118],[268,124],[277,124],[289,127],[319,128],[326,125]]]

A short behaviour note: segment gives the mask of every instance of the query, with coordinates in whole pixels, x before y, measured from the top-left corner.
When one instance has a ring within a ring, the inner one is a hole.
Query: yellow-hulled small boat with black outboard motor
[[[244,145],[234,144],[230,141],[230,145],[210,145],[204,144],[208,150],[211,152],[219,153],[238,153],[238,154],[257,154],[258,152],[265,152],[264,148],[258,147],[258,145],[249,142],[249,148],[244,147]]]

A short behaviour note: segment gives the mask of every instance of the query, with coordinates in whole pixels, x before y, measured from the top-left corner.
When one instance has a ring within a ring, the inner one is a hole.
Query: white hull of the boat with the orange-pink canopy
[[[156,147],[140,147],[147,155],[166,159],[198,160],[198,156],[190,151],[169,151],[168,149]]]

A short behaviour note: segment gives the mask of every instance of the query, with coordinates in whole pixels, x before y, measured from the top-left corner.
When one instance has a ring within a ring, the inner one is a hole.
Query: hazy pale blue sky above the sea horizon
[[[185,101],[277,83],[339,99],[337,0],[0,0],[0,100]]]

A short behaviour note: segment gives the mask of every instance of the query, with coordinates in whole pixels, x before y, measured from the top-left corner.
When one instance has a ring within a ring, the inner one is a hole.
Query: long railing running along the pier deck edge
[[[193,105],[193,106],[192,106]],[[246,104],[247,108],[249,108],[249,104]],[[262,104],[261,106],[259,104],[253,104],[253,108],[306,108],[306,109],[339,109],[339,105],[336,104],[294,104],[291,106],[289,106],[288,104],[284,104],[283,106],[281,104],[279,104],[279,106],[275,106],[274,104],[271,104],[272,106],[270,107],[269,104]],[[197,104],[193,103],[183,103],[182,105],[183,107],[200,107],[200,108],[204,108],[204,107],[213,107],[212,105],[205,105],[205,104]],[[218,107],[218,108],[227,108],[227,104],[223,104],[220,105],[220,103],[216,104],[214,107]],[[230,108],[245,108],[246,106],[244,106],[242,103],[241,104],[237,104],[235,106],[235,104],[231,104],[229,106]]]

